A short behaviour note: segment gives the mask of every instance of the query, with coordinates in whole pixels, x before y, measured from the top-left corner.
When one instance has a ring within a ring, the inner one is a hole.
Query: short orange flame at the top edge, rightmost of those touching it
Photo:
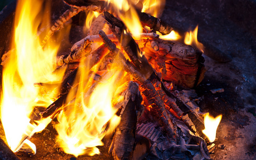
[[[142,3],[142,12],[149,13],[154,17],[160,17],[165,5],[165,0],[144,0]]]

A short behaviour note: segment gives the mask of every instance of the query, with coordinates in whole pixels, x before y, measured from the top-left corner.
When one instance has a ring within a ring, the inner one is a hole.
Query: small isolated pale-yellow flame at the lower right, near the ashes
[[[213,142],[216,138],[216,131],[221,121],[221,118],[222,118],[222,115],[219,115],[215,118],[210,116],[209,113],[206,113],[204,115],[205,129],[202,132],[206,135],[206,137],[209,139],[210,142]]]

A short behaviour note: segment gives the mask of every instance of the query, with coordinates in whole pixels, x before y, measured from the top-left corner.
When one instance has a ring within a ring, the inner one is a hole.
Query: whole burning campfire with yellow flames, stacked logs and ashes
[[[157,18],[158,1],[64,2],[53,26],[47,2],[17,4],[1,63],[10,149],[36,154],[29,139],[54,119],[57,147],[76,157],[109,141],[114,159],[210,159],[221,116],[201,111],[193,89],[206,71],[202,54],[215,49],[197,40],[198,27],[181,36]],[[65,49],[71,19],[85,12],[87,36]]]

